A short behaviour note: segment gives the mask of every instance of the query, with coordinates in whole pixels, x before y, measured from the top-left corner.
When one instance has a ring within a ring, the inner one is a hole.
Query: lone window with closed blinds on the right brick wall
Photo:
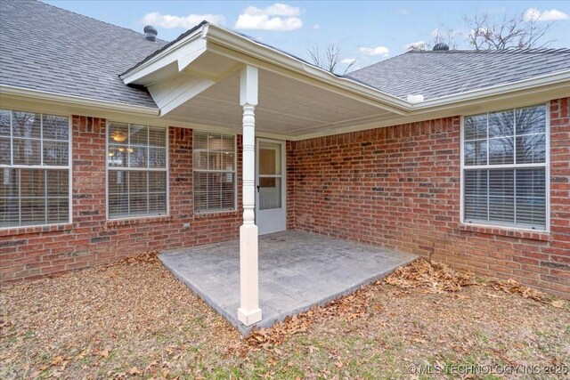
[[[465,117],[463,221],[547,230],[546,106]]]

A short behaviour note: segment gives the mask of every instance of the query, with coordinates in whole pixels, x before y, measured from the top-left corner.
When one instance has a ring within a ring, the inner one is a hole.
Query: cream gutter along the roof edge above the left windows
[[[77,95],[50,93],[46,91],[32,90],[13,85],[0,85],[0,94],[10,95],[24,99],[30,99],[35,101],[52,101],[74,107],[83,106],[88,109],[123,111],[132,114],[138,114],[141,116],[159,116],[160,114],[158,108],[136,106],[131,104],[119,103],[116,101],[101,101]]]

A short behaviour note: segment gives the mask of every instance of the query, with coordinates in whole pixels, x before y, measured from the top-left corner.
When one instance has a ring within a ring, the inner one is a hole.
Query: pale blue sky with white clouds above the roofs
[[[309,60],[308,50],[328,44],[341,48],[341,66],[352,69],[405,53],[407,45],[433,45],[437,28],[452,30],[458,48],[468,48],[468,15],[488,13],[495,20],[525,14],[552,26],[549,47],[570,47],[569,1],[79,1],[45,3],[141,31],[153,25],[171,41],[208,20]],[[342,67],[341,67],[342,70]]]

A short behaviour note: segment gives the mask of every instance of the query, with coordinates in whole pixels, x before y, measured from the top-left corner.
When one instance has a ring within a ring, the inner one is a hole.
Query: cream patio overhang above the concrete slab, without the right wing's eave
[[[407,101],[211,24],[121,77],[127,85],[145,86],[161,117],[238,130],[240,72],[246,67],[258,69],[259,135],[292,140],[408,115]]]

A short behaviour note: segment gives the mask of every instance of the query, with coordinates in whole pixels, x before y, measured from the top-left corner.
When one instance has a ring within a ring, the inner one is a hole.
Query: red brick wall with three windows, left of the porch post
[[[73,222],[0,230],[0,283],[39,279],[117,261],[149,249],[172,249],[237,239],[240,211],[193,214],[192,131],[169,128],[170,214],[106,220],[106,120],[73,117]],[[237,139],[241,173],[241,136]],[[238,175],[238,210],[241,207]],[[190,227],[184,227],[190,223]]]

